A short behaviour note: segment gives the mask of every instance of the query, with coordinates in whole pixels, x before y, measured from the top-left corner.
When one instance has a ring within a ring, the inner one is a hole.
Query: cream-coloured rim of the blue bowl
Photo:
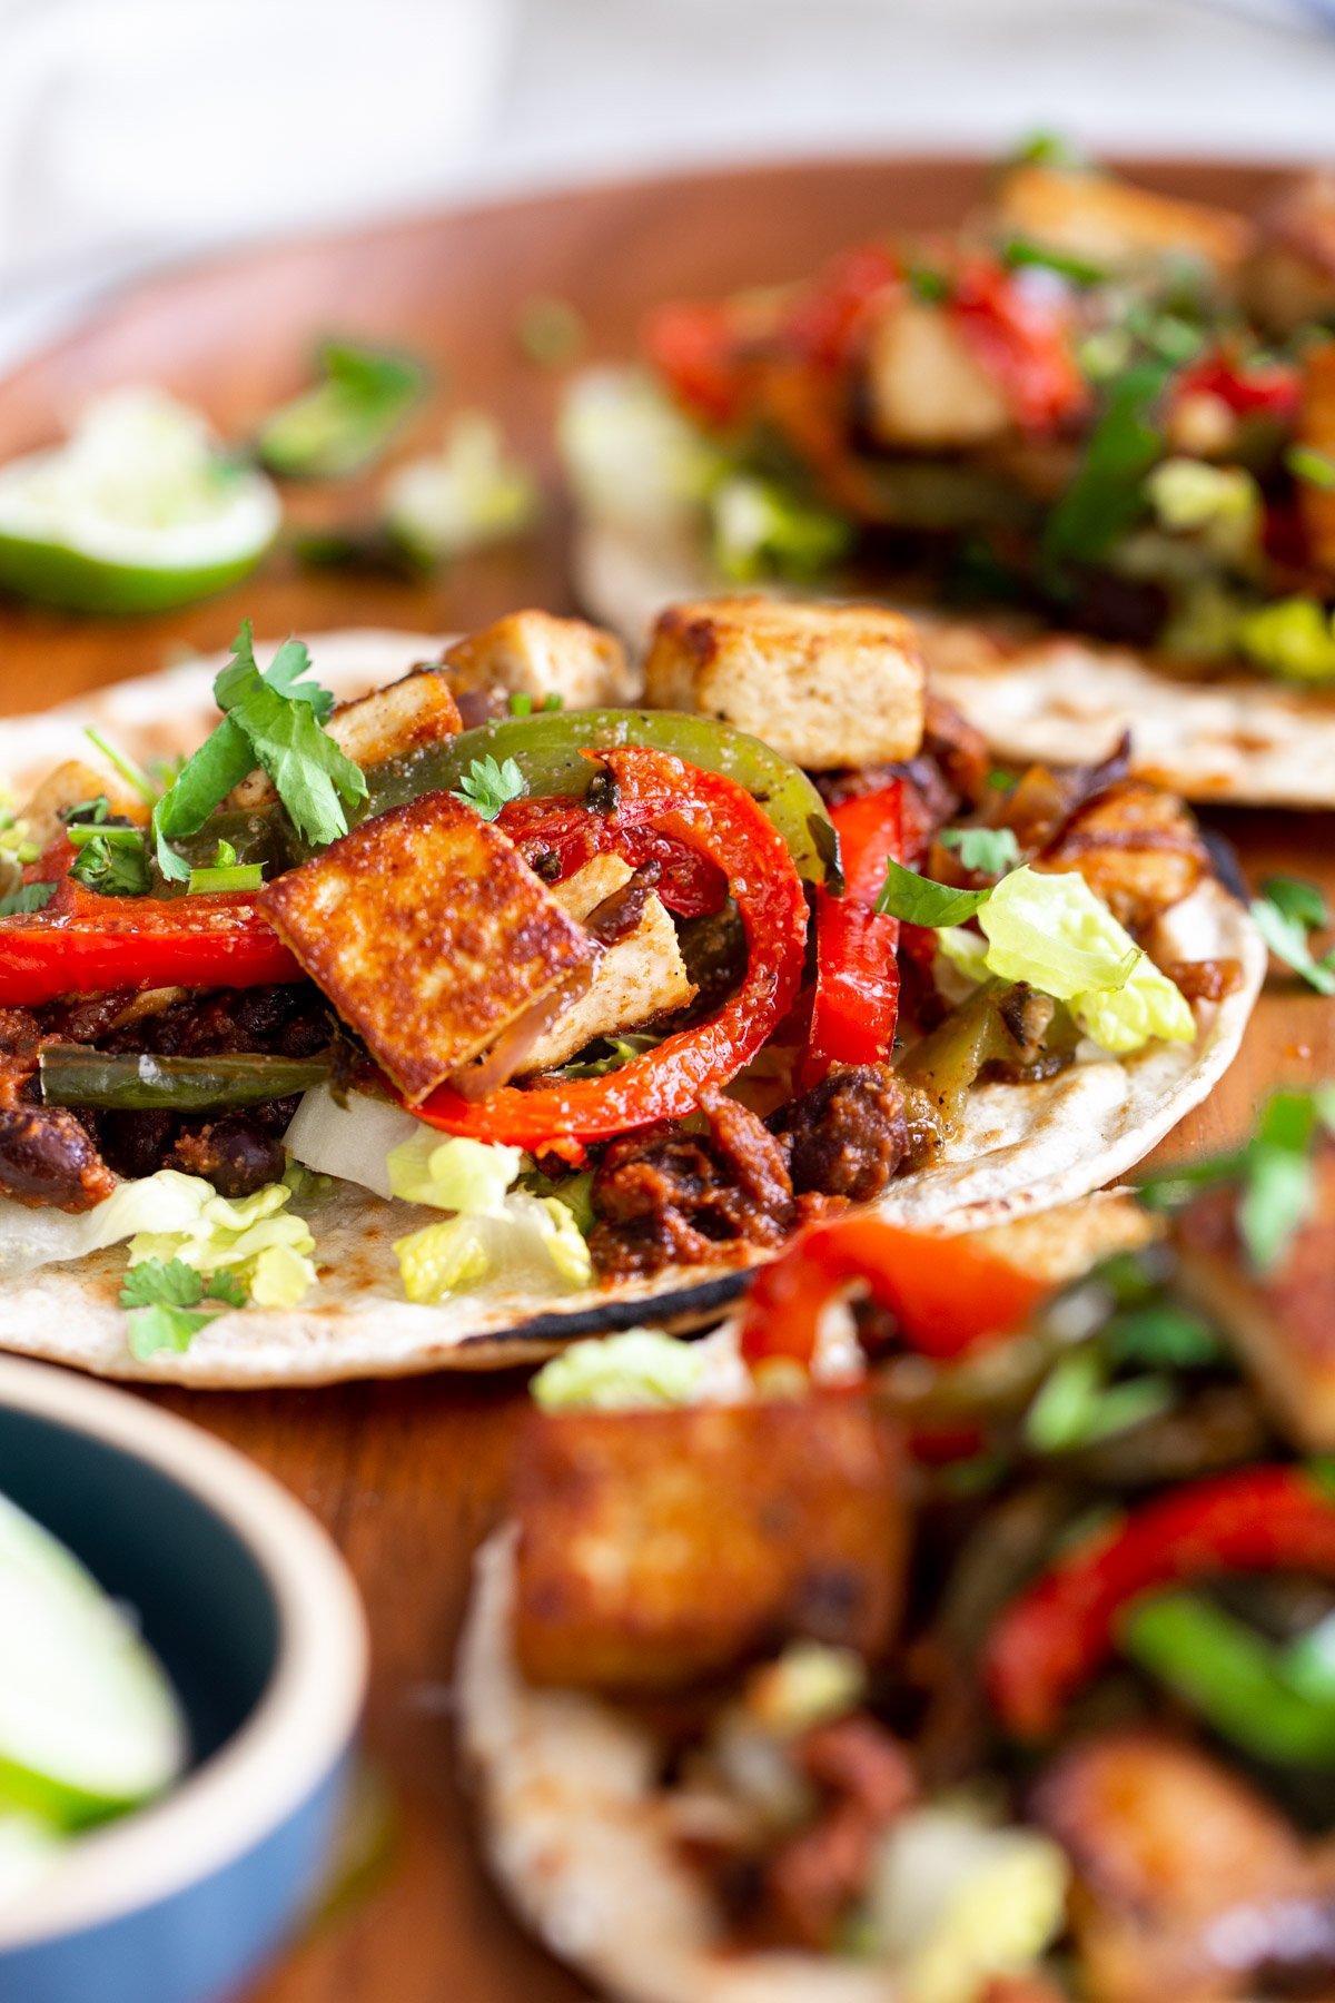
[[[180,1787],[72,1843],[0,1911],[4,1955],[84,1933],[196,1885],[260,1843],[338,1763],[370,1660],[352,1576],[314,1516],[200,1426],[52,1364],[0,1356],[0,1406],[48,1418],[150,1462],[252,1552],[278,1610],[278,1660],[246,1723]]]

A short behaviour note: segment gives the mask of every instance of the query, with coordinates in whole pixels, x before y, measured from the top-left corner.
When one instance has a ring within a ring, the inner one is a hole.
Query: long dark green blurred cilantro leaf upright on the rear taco
[[[1141,363],[1113,383],[1085,459],[1043,529],[1043,557],[1059,573],[1067,563],[1099,563],[1141,515],[1145,475],[1163,451],[1151,419],[1169,375],[1165,363]]]

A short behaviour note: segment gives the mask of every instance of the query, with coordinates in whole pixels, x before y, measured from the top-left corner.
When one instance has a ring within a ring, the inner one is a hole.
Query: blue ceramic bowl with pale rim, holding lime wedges
[[[282,1943],[328,1859],[366,1683],[352,1582],[240,1454],[14,1358],[0,1488],[136,1608],[192,1735],[164,1801],[78,1839],[0,1907],[0,1997],[212,2003]]]

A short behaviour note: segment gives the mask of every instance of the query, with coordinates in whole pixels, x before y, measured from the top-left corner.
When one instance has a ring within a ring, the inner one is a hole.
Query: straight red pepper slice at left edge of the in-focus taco
[[[44,911],[0,919],[0,1008],[114,987],[304,979],[248,897],[98,897],[64,877]]]

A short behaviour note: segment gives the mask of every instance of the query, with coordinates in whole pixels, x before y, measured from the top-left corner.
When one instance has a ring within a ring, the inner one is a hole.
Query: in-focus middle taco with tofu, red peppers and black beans
[[[242,629],[94,741],[6,725],[46,771],[0,833],[0,1342],[524,1362],[719,1314],[817,1214],[1059,1204],[1209,1092],[1265,953],[1125,753],[999,773],[877,609],[697,605],[652,655],[646,711],[546,613],[326,635],[336,691]]]

